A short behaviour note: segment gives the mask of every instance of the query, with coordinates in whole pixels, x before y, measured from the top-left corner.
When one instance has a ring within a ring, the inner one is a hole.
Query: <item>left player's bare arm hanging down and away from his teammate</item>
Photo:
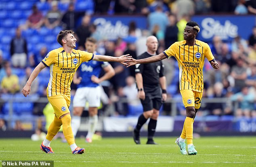
[[[22,89],[22,94],[27,97],[27,95],[30,93],[31,90],[31,84],[34,81],[34,79],[38,76],[39,72],[44,69],[46,66],[40,62],[36,68],[33,70],[31,75],[29,76],[29,79],[27,80],[26,85]]]

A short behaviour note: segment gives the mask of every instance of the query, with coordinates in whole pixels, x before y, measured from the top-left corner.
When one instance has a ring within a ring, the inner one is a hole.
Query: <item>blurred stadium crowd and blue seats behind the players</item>
[[[18,1],[17,1],[18,2]],[[4,12],[17,7],[16,0],[4,1],[6,9],[0,17],[7,19]],[[130,54],[134,58],[145,52],[145,40],[155,35],[159,41],[158,53],[163,52],[172,43],[183,40],[183,30],[193,15],[229,13],[235,15],[256,14],[254,0],[31,0],[27,6],[20,6],[13,24],[0,24],[2,47],[0,50],[0,130],[4,126],[4,115],[8,115],[8,99],[20,98],[32,69],[42,61],[48,51],[59,48],[56,34],[62,29],[72,29],[78,39],[77,48],[85,50],[86,38],[98,41],[99,54],[121,56]],[[84,5],[86,4],[86,6]],[[84,8],[82,8],[84,6]],[[182,7],[181,7],[182,6]],[[4,5],[1,6],[4,8]],[[178,10],[179,9],[179,10]],[[14,14],[13,14],[14,15]],[[92,15],[146,15],[148,29],[138,29],[135,22],[130,22],[128,37],[106,40],[91,22]],[[15,16],[13,16],[15,17]],[[5,27],[4,27],[5,26]],[[8,26],[12,26],[11,28]],[[6,31],[10,29],[10,31]],[[204,67],[204,98],[226,98],[224,102],[204,102],[198,115],[231,115],[235,117],[256,118],[256,26],[248,39],[239,35],[232,41],[223,41],[215,36],[209,43],[214,57],[220,65],[218,71]],[[9,38],[4,37],[6,35]],[[50,35],[51,34],[51,35]],[[50,36],[49,36],[50,35]],[[168,100],[161,114],[171,114],[172,99],[181,99],[178,91],[178,63],[174,59],[165,59]],[[137,97],[134,67],[126,68],[118,63],[111,63],[115,76],[102,83],[105,90],[102,99],[103,108],[99,114],[137,115],[141,104]],[[31,99],[46,97],[48,69],[44,69],[31,85]],[[76,85],[71,85],[74,95]],[[29,100],[28,100],[29,101]],[[14,102],[13,114],[43,115],[47,103],[37,101]],[[111,107],[110,107],[111,106]],[[236,106],[236,107],[234,107]],[[113,110],[114,112],[105,112]],[[182,103],[177,103],[178,115],[185,115]],[[19,125],[19,122],[17,122]]]

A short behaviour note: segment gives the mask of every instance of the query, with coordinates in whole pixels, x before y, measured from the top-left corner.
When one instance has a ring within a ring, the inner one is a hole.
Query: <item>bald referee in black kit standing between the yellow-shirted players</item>
[[[155,36],[147,38],[147,52],[138,56],[138,59],[156,55],[158,41]],[[156,144],[153,140],[159,109],[166,100],[166,77],[162,61],[149,64],[135,65],[135,77],[138,88],[138,97],[143,105],[143,114],[138,117],[138,123],[133,130],[133,140],[141,144],[141,127],[149,120],[147,144]],[[162,88],[162,89],[161,89]]]

